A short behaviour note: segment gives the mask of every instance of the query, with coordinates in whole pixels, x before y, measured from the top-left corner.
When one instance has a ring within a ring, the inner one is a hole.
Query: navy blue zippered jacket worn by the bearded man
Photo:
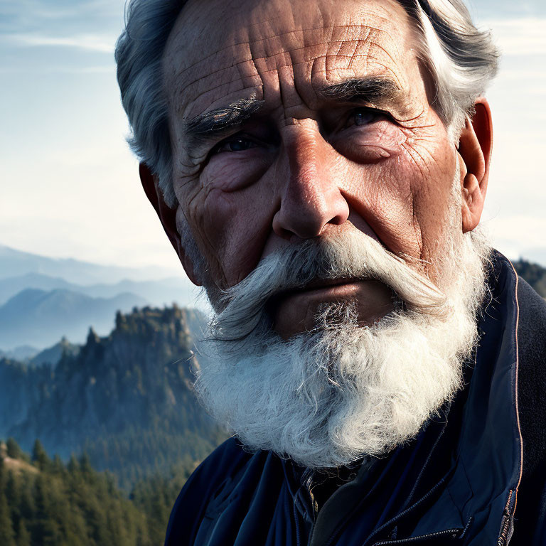
[[[166,546],[546,545],[546,304],[493,263],[466,388],[416,439],[336,476],[229,439],[183,487]]]

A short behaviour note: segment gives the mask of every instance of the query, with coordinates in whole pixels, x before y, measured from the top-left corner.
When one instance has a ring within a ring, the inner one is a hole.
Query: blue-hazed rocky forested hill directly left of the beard
[[[63,459],[85,450],[126,488],[203,459],[224,434],[191,387],[191,329],[202,322],[197,311],[144,308],[118,313],[107,337],[90,331],[56,368],[0,360],[0,385],[10,386],[0,397],[0,438],[26,450],[39,438]]]

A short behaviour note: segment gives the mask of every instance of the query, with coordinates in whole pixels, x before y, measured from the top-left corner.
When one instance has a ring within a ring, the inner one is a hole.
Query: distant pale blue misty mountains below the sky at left
[[[195,294],[182,268],[175,277],[160,268],[53,259],[0,245],[0,354],[29,360],[63,336],[83,343],[90,326],[106,335],[117,310],[191,306]]]

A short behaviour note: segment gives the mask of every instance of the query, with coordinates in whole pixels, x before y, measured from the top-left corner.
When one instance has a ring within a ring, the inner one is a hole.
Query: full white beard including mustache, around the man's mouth
[[[489,251],[476,233],[446,242],[435,264],[441,290],[355,229],[267,257],[226,292],[200,346],[210,358],[198,371],[198,395],[250,449],[302,466],[385,454],[461,388]],[[352,304],[329,304],[313,331],[283,341],[268,302],[317,277],[379,279],[403,305],[363,327]]]

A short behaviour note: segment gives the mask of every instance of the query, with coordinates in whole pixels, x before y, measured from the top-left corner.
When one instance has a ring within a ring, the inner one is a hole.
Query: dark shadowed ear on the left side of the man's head
[[[161,222],[161,225],[163,225],[163,229],[167,234],[168,240],[171,241],[171,245],[173,245],[174,250],[176,250],[176,254],[178,255],[178,258],[180,258],[181,264],[186,271],[186,274],[190,278],[191,282],[193,282],[193,284],[197,284],[198,286],[200,286],[201,282],[198,280],[195,274],[193,262],[186,255],[180,239],[180,234],[176,229],[177,207],[174,206],[171,208],[167,205],[167,203],[165,203],[163,192],[161,191],[161,188],[159,188],[159,183],[156,177],[151,173],[149,167],[144,163],[141,163],[139,166],[139,174],[142,188],[144,188],[144,193],[146,193],[146,197],[148,198],[151,205],[154,207],[159,217],[159,221]]]

